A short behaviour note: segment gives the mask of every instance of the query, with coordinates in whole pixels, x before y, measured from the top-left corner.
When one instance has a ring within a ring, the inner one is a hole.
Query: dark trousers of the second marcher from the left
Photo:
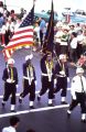
[[[24,98],[28,94],[30,94],[30,101],[34,101],[35,99],[35,84],[32,81],[31,85],[25,85],[23,92],[20,94],[20,97]]]

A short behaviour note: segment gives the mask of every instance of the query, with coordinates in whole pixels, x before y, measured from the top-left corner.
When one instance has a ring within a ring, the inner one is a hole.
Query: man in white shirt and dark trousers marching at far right
[[[84,69],[78,67],[76,69],[76,76],[72,80],[71,94],[72,94],[72,102],[67,110],[68,118],[71,117],[74,108],[80,103],[82,109],[82,122],[86,123],[86,106],[85,106],[85,94],[86,94],[86,78],[83,76]]]

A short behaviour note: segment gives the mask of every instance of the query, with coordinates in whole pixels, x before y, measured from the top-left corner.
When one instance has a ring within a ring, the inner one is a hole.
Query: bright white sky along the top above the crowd
[[[7,3],[9,10],[15,9],[17,12],[21,8],[30,10],[33,6],[33,0],[2,0]],[[35,1],[35,11],[50,10],[52,0],[36,0]],[[86,0],[53,0],[54,10],[62,12],[64,8],[71,8],[72,10],[80,9],[86,10]]]

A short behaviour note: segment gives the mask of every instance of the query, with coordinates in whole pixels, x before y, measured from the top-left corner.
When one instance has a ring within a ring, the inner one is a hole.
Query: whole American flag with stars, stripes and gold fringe
[[[14,31],[9,44],[2,51],[6,61],[11,57],[17,47],[33,45],[33,18],[34,6],[20,26]]]

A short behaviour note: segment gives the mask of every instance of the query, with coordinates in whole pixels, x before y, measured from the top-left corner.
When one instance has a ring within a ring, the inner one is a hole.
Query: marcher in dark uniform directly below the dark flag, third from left
[[[49,89],[49,106],[53,106],[53,88],[54,88],[54,66],[52,59],[52,53],[47,53],[41,59],[41,72],[42,72],[42,89],[37,96],[37,100],[41,100],[41,96],[43,96]]]

